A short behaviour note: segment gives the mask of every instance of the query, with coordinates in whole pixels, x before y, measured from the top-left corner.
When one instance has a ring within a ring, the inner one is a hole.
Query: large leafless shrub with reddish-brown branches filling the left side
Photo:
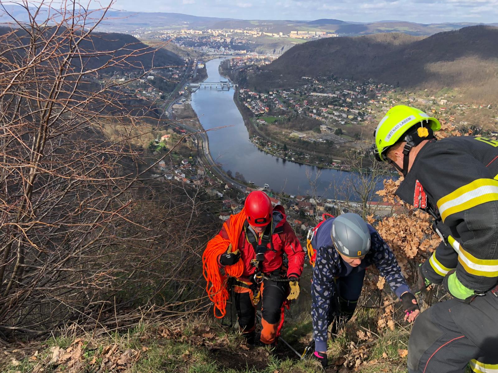
[[[147,181],[153,165],[132,134],[162,125],[160,113],[101,80],[148,75],[155,49],[106,48],[93,30],[109,6],[23,6],[29,21],[12,18],[0,36],[0,333],[178,303],[200,288],[205,207],[198,191]],[[104,138],[100,127],[116,122],[128,130]]]

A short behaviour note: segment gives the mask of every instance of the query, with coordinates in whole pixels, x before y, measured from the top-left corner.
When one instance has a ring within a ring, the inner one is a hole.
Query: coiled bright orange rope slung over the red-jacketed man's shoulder
[[[220,235],[215,236],[208,242],[204,253],[202,254],[202,273],[206,279],[206,292],[209,299],[214,303],[214,316],[218,319],[225,317],[228,290],[228,277],[241,277],[244,271],[244,263],[239,260],[233,266],[225,267],[225,274],[220,272],[218,257],[227,251],[227,248],[232,244],[232,250],[238,249],[239,235],[242,231],[244,221],[246,220],[246,212],[242,209],[236,215],[230,216],[230,226],[225,222],[223,224],[228,235],[228,240]],[[217,314],[218,311],[218,314]]]

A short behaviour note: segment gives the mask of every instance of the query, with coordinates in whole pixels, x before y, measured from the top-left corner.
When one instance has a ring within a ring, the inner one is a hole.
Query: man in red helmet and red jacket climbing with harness
[[[241,212],[244,213],[244,212]],[[304,251],[293,229],[286,222],[284,208],[274,208],[266,193],[256,190],[249,193],[245,202],[246,222],[239,236],[240,250],[220,255],[221,267],[230,266],[241,259],[244,272],[235,282],[235,303],[239,327],[249,343],[255,339],[255,306],[262,299],[261,337],[263,344],[273,344],[277,336],[281,307],[287,299],[299,295],[299,277],[303,271]],[[230,219],[227,220],[230,227]],[[228,239],[225,228],[219,233]],[[283,255],[288,264],[283,266]],[[290,281],[277,281],[288,279]],[[289,292],[290,287],[290,292]],[[287,296],[288,294],[288,296]]]

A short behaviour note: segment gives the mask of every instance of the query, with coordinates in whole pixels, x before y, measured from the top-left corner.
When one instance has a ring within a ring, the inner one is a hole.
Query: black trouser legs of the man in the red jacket
[[[261,316],[267,323],[276,324],[280,321],[280,308],[287,296],[287,287],[287,282],[263,280]],[[256,309],[252,305],[249,293],[235,293],[235,306],[241,330],[248,332],[253,330]]]

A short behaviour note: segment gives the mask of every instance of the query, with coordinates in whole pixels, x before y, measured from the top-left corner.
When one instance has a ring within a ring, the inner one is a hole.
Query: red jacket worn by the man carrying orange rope
[[[276,223],[276,224],[275,224]],[[289,268],[287,269],[287,277],[292,275],[300,277],[303,272],[304,265],[304,250],[301,247],[301,243],[296,237],[294,230],[291,228],[289,223],[286,221],[285,210],[282,206],[275,206],[273,209],[273,231],[277,233],[272,234],[273,252],[268,243],[268,250],[264,254],[264,261],[262,265],[262,272],[265,274],[271,273],[280,267],[282,267],[283,253],[287,254],[289,261]],[[230,226],[230,219],[227,220],[227,225]],[[249,232],[249,234],[252,234]],[[227,232],[225,228],[219,233],[225,239],[228,239]],[[249,277],[253,275],[256,269],[250,264],[250,261],[256,257],[254,248],[249,243],[246,238],[244,243],[244,231],[241,231],[239,236],[239,248],[241,248],[241,258],[244,262],[244,273],[243,277]],[[259,241],[260,243],[260,241]],[[242,250],[244,248],[244,250]]]

